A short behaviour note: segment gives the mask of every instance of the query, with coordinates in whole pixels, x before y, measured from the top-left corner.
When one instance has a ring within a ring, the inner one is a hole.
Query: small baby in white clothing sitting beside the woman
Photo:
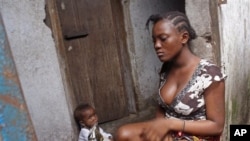
[[[78,105],[74,118],[81,127],[78,141],[112,141],[112,135],[98,126],[98,116],[89,104]]]

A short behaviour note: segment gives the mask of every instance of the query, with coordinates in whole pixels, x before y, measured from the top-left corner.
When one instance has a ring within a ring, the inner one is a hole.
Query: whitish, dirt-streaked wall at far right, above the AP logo
[[[219,6],[222,63],[226,81],[227,125],[250,123],[250,1],[227,0]],[[226,136],[225,135],[225,136]],[[225,138],[225,141],[229,140]]]

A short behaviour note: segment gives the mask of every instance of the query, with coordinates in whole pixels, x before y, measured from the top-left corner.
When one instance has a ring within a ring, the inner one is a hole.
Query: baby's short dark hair
[[[80,125],[80,121],[84,118],[84,115],[82,114],[84,111],[88,110],[88,109],[92,109],[93,107],[91,105],[89,105],[88,103],[82,103],[79,104],[75,110],[74,110],[74,119],[75,122],[78,126],[79,129],[81,129],[81,125]]]

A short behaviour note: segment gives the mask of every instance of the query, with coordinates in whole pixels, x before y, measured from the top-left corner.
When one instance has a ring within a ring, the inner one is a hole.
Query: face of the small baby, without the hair
[[[83,112],[83,123],[86,127],[91,128],[98,122],[98,117],[93,108],[89,108]]]

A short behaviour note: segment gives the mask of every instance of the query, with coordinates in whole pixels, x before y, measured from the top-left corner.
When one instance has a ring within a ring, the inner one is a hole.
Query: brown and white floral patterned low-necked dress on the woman
[[[161,74],[160,88],[159,88],[159,105],[165,110],[166,118],[178,118],[183,120],[206,120],[206,108],[204,100],[204,91],[215,81],[222,81],[226,78],[220,68],[215,64],[201,59],[198,67],[192,75],[191,80],[185,88],[177,94],[173,102],[166,104],[160,94],[160,89],[166,82],[168,74]],[[195,140],[194,136],[187,136],[191,141]],[[187,139],[188,140],[188,139]],[[199,137],[199,140],[217,140]]]

